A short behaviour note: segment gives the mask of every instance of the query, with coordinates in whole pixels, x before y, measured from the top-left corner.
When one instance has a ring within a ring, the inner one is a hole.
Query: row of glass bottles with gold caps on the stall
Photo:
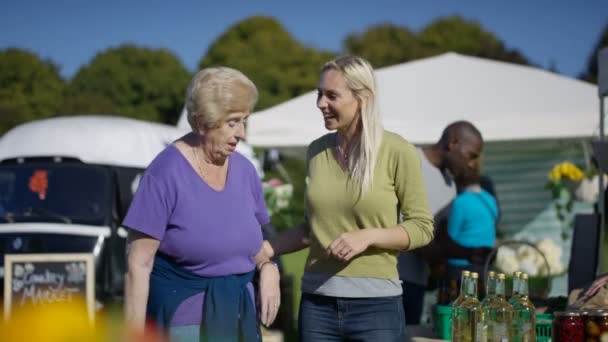
[[[486,296],[479,301],[479,275],[463,271],[460,294],[452,304],[452,341],[536,341],[535,308],[528,298],[528,275],[516,272],[507,301],[505,275],[489,272]]]

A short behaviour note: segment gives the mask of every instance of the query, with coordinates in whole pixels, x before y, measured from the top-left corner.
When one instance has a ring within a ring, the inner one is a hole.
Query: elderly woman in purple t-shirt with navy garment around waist
[[[253,165],[238,152],[257,101],[241,72],[208,68],[186,95],[192,132],[148,166],[124,220],[129,228],[125,314],[146,316],[178,341],[259,341],[252,279],[260,272],[262,323],[279,306],[279,273],[260,252],[269,223]]]

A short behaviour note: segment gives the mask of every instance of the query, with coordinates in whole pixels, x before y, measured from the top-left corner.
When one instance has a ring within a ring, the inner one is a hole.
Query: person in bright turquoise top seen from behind
[[[458,195],[452,203],[447,233],[463,247],[493,248],[496,244],[498,205],[494,196],[481,187],[480,179],[479,163],[455,179]],[[453,257],[448,258],[447,266],[449,279],[459,279],[463,269],[475,272],[483,269],[483,265]],[[480,276],[483,275],[480,273]]]

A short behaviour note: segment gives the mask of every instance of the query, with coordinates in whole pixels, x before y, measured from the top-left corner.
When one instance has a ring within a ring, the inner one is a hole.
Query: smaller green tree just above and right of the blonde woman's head
[[[415,33],[393,24],[372,26],[344,40],[347,53],[367,59],[375,68],[408,62],[428,55]]]

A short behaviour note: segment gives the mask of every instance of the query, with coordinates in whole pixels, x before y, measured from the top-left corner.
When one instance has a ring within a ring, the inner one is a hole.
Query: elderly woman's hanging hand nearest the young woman
[[[262,262],[260,272],[260,306],[261,319],[265,326],[270,326],[277,317],[281,305],[281,288],[279,267],[272,261]]]

